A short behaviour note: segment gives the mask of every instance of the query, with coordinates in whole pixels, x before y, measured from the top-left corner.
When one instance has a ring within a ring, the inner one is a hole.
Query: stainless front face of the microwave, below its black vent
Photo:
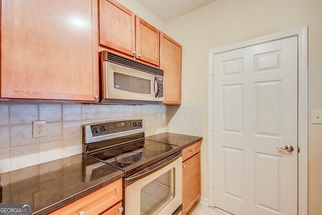
[[[164,101],[163,77],[103,61],[103,99]]]

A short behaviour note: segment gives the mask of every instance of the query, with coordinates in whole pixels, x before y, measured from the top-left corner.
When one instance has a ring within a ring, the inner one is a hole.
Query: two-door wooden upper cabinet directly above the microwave
[[[99,5],[100,46],[158,66],[160,31],[115,0]]]

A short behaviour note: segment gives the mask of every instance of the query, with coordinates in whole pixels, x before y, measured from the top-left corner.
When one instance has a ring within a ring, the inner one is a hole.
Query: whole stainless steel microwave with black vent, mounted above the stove
[[[164,72],[109,51],[100,52],[101,103],[158,104],[164,101]]]

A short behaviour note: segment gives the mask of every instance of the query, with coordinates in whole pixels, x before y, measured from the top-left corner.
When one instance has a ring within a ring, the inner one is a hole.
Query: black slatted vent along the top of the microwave
[[[107,52],[107,61],[119,64],[119,65],[123,65],[126,67],[134,68],[140,71],[144,71],[145,73],[150,73],[156,76],[164,76],[163,75],[164,72],[162,69],[137,62],[135,60],[117,55],[112,52]]]

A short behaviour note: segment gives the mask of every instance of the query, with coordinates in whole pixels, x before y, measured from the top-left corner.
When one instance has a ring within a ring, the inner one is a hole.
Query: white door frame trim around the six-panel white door
[[[214,206],[214,120],[213,120],[213,55],[239,48],[245,48],[265,42],[284,39],[287,37],[298,37],[298,215],[307,215],[307,193],[308,193],[308,64],[307,64],[307,30],[308,27],[300,27],[277,34],[229,45],[209,51],[209,73],[208,73],[208,157],[209,157],[209,206]]]

